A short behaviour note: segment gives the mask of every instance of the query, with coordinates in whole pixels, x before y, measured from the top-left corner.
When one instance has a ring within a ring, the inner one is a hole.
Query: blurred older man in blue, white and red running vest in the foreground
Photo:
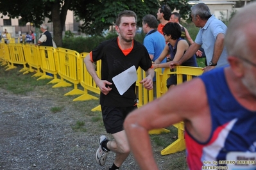
[[[229,66],[176,86],[126,118],[124,129],[141,169],[158,169],[148,130],[180,121],[189,169],[256,169],[255,162],[229,162],[256,160],[255,8],[256,3],[245,6],[228,24]]]

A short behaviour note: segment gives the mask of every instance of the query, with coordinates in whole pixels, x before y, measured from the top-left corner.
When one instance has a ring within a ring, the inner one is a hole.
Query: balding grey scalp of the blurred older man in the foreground
[[[237,12],[225,36],[226,50],[229,56],[252,56],[256,53],[256,3],[243,7]]]

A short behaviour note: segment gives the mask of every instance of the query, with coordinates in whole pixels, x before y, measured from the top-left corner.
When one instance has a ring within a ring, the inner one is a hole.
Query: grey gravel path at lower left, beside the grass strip
[[[0,89],[0,169],[107,169],[95,161],[99,135],[74,132],[65,107],[53,114],[56,100],[40,96],[12,95]],[[114,159],[114,153],[108,155]],[[122,169],[139,169],[132,156]]]

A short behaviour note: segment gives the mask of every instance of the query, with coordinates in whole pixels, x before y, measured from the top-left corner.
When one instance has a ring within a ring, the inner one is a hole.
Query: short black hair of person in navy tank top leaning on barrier
[[[171,35],[172,40],[177,40],[182,35],[182,28],[176,22],[168,22],[162,31],[165,35]]]

